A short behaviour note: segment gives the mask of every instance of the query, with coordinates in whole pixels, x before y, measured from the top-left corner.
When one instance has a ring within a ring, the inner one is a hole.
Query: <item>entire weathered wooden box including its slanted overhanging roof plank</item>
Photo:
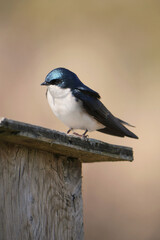
[[[82,240],[82,163],[132,149],[0,119],[0,240]]]

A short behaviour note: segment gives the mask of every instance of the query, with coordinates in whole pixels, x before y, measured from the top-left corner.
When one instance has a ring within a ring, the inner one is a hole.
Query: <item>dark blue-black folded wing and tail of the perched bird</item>
[[[104,125],[104,128],[97,131],[115,135],[119,137],[128,136],[138,138],[134,133],[129,131],[123,124],[130,125],[112,115],[112,113],[99,100],[100,95],[92,89],[86,87],[78,87],[74,89],[73,95],[82,101],[83,107],[88,114],[93,116],[98,122]]]

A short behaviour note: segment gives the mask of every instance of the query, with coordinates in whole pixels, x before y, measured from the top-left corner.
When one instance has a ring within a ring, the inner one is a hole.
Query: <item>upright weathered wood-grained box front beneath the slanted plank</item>
[[[81,163],[0,143],[0,240],[82,240]]]

